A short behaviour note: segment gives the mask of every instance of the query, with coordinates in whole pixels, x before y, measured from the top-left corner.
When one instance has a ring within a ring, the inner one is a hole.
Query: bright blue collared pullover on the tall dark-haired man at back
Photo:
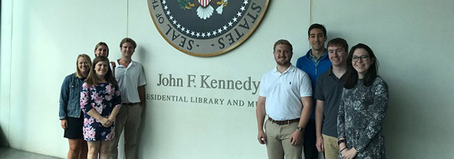
[[[311,79],[312,90],[315,90],[315,84],[317,83],[318,76],[331,68],[331,61],[329,61],[328,58],[328,49],[325,49],[325,53],[321,57],[319,57],[319,59],[315,59],[315,57],[312,55],[312,49],[309,49],[305,56],[298,58],[296,67],[303,70],[307,73],[307,75],[309,75],[309,78]],[[315,102],[316,99],[314,95],[312,95],[311,119],[314,120]]]

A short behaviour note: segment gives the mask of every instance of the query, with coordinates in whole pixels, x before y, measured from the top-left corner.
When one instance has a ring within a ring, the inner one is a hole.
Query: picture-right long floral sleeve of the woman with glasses
[[[373,110],[371,112],[372,119],[360,135],[357,144],[353,145],[358,152],[361,152],[375,135],[382,130],[384,117],[388,108],[388,85],[384,81],[381,81],[372,90],[374,90]]]

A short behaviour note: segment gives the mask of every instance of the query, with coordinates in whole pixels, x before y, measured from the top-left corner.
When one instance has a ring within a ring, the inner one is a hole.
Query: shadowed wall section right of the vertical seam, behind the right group
[[[317,2],[314,21],[351,46],[368,44],[390,91],[389,158],[452,158],[454,1]],[[332,11],[326,13],[325,11]],[[339,12],[339,14],[333,14]]]

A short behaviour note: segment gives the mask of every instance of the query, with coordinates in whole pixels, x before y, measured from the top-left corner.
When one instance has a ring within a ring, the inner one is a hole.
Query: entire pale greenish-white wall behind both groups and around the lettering
[[[129,5],[129,8],[128,8]],[[158,74],[186,78],[259,81],[274,67],[272,44],[294,45],[295,64],[309,49],[307,28],[321,23],[328,38],[371,46],[380,61],[391,102],[385,122],[388,158],[449,158],[454,152],[449,62],[454,31],[450,1],[272,1],[255,33],[217,57],[192,57],[167,44],[150,18],[146,1],[2,1],[0,126],[11,147],[65,157],[67,140],[58,120],[63,78],[75,58],[91,57],[99,41],[120,57],[129,36],[133,57],[145,68],[149,94],[256,100],[250,91],[157,86]],[[312,15],[312,17],[310,16]],[[12,34],[11,34],[12,33]],[[11,70],[11,71],[10,71]],[[255,108],[147,100],[141,158],[266,158],[256,140]]]

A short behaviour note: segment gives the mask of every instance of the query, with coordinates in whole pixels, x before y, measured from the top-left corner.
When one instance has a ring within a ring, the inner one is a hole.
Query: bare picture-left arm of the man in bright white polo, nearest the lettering
[[[264,96],[259,96],[257,100],[257,108],[256,108],[256,116],[257,116],[257,128],[258,128],[258,136],[257,139],[259,143],[265,144],[266,143],[266,137],[265,137],[265,132],[263,131],[263,123],[265,120],[265,100],[266,97]]]

